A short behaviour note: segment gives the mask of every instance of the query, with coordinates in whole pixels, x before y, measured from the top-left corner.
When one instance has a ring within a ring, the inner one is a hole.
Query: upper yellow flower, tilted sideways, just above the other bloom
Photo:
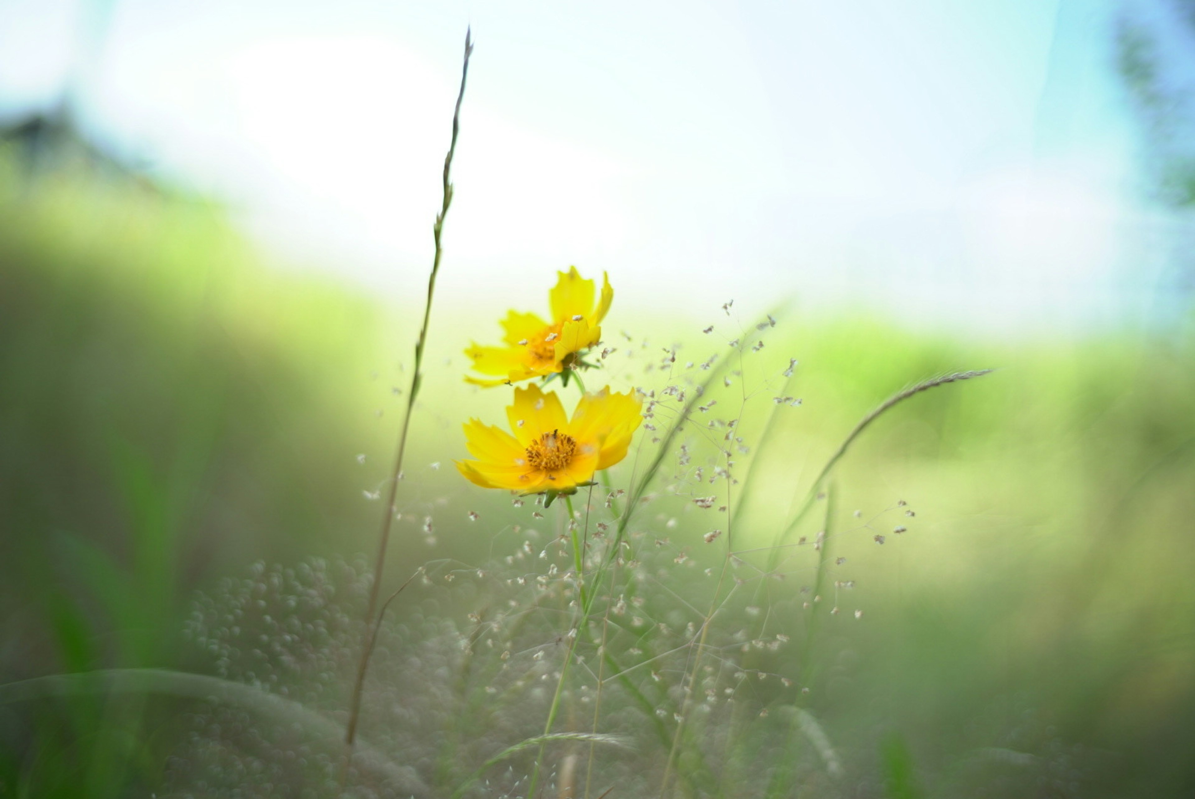
[[[594,281],[586,280],[576,267],[557,273],[559,280],[549,293],[552,321],[535,313],[510,311],[502,322],[504,347],[480,347],[476,342],[465,350],[473,359],[473,370],[496,378],[466,377],[477,385],[516,383],[572,365],[576,354],[601,340],[601,324],[614,299],[609,279],[602,274],[601,295],[594,304]]]

